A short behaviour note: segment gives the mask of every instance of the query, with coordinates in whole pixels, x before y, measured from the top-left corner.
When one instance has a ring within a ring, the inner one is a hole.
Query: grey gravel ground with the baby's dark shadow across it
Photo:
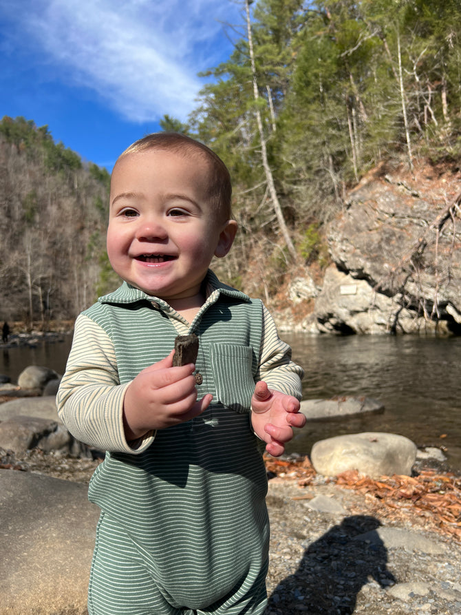
[[[308,508],[307,498],[319,494],[340,503],[344,512]],[[300,495],[306,499],[293,499]],[[415,528],[378,519],[363,495],[330,484],[300,490],[296,481],[275,479],[269,483],[268,506],[267,615],[461,614],[459,543],[422,532],[437,551],[427,554],[357,539],[390,526],[402,530],[411,544]]]

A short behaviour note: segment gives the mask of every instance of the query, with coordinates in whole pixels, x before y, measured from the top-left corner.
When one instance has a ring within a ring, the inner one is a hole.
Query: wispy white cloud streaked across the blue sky
[[[1,4],[5,5],[4,0]],[[163,114],[185,119],[202,81],[228,41],[222,21],[235,21],[227,0],[32,0],[16,6],[21,28],[60,79],[88,87],[129,121]],[[64,70],[64,72],[63,72]],[[64,75],[64,76],[63,76]]]

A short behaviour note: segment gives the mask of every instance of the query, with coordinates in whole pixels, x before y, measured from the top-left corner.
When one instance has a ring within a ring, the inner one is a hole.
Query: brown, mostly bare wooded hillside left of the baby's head
[[[104,280],[109,174],[46,126],[0,123],[1,318],[72,320]]]

